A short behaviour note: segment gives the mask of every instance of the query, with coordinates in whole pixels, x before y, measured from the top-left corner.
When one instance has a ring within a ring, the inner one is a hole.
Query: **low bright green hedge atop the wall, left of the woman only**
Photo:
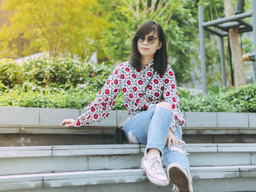
[[[76,88],[61,85],[59,87],[39,87],[34,83],[15,85],[15,88],[0,92],[0,106],[10,107],[42,107],[83,109],[94,101],[100,89],[80,84]],[[124,110],[122,94],[118,94],[113,110]]]

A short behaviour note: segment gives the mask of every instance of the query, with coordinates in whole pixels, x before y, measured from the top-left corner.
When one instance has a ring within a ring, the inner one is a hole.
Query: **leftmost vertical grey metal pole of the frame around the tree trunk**
[[[204,31],[203,31],[202,24],[203,24],[203,5],[200,5],[200,6],[198,6],[198,25],[199,25],[199,39],[200,39],[202,91],[203,91],[203,93],[207,93],[207,82],[206,82],[206,47],[205,47],[205,38],[204,38]]]

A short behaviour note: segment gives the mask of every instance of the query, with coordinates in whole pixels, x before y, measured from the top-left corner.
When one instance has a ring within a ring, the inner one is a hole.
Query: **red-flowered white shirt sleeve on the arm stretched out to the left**
[[[86,112],[83,112],[83,114],[75,120],[77,127],[99,122],[108,117],[110,110],[116,103],[116,96],[121,87],[120,71],[121,66],[116,66],[116,69],[110,74],[101,91],[97,93],[96,99],[85,108]]]

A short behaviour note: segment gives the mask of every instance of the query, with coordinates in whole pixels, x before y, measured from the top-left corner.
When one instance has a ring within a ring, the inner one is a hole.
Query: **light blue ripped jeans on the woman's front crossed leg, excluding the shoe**
[[[146,152],[157,149],[163,154],[172,120],[172,112],[164,104],[167,103],[159,103],[147,111],[137,112],[124,124],[129,142],[146,144]]]

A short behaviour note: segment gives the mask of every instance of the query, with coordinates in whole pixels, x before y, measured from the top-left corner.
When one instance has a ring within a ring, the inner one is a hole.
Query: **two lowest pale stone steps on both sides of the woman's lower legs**
[[[0,147],[0,191],[170,191],[151,185],[145,145]],[[188,144],[194,191],[255,191],[256,144]],[[127,188],[126,188],[127,186]],[[150,186],[150,187],[149,187]]]

